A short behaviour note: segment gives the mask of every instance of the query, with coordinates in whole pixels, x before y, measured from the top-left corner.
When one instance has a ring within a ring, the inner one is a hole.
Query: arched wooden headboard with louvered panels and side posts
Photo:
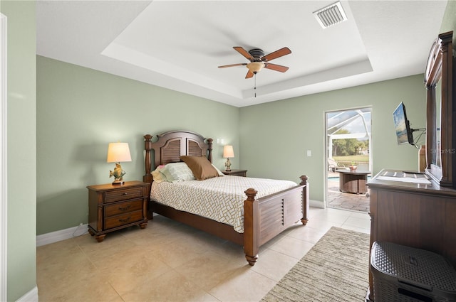
[[[204,139],[192,131],[168,131],[158,134],[155,143],[152,143],[152,137],[150,134],[144,136],[145,175],[142,181],[145,183],[152,183],[151,150],[154,150],[155,167],[181,161],[180,156],[183,155],[207,156],[212,163],[212,139]]]

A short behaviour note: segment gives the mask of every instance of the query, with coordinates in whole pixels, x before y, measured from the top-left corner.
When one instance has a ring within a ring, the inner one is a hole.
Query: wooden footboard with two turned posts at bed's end
[[[255,199],[256,190],[250,188],[245,191],[244,252],[250,265],[257,262],[261,245],[299,220],[303,225],[309,221],[307,179],[307,176],[301,176],[300,185],[259,199]]]

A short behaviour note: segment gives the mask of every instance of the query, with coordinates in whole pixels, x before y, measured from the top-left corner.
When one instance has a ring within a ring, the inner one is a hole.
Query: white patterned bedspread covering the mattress
[[[152,183],[150,198],[176,210],[191,212],[232,225],[244,232],[244,191],[254,188],[256,198],[285,190],[297,185],[289,180],[222,176],[207,180],[188,180],[178,183]]]

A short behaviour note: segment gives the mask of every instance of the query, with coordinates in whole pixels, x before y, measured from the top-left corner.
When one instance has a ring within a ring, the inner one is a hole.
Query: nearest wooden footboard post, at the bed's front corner
[[[257,191],[249,188],[244,192],[244,253],[250,265],[254,266],[259,251],[259,208],[255,199]]]

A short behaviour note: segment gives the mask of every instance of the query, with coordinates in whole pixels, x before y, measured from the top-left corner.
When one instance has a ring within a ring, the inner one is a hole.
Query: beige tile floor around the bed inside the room
[[[39,301],[259,301],[332,226],[368,233],[367,213],[311,208],[261,247],[242,247],[155,216],[145,230],[89,234],[37,248]]]

